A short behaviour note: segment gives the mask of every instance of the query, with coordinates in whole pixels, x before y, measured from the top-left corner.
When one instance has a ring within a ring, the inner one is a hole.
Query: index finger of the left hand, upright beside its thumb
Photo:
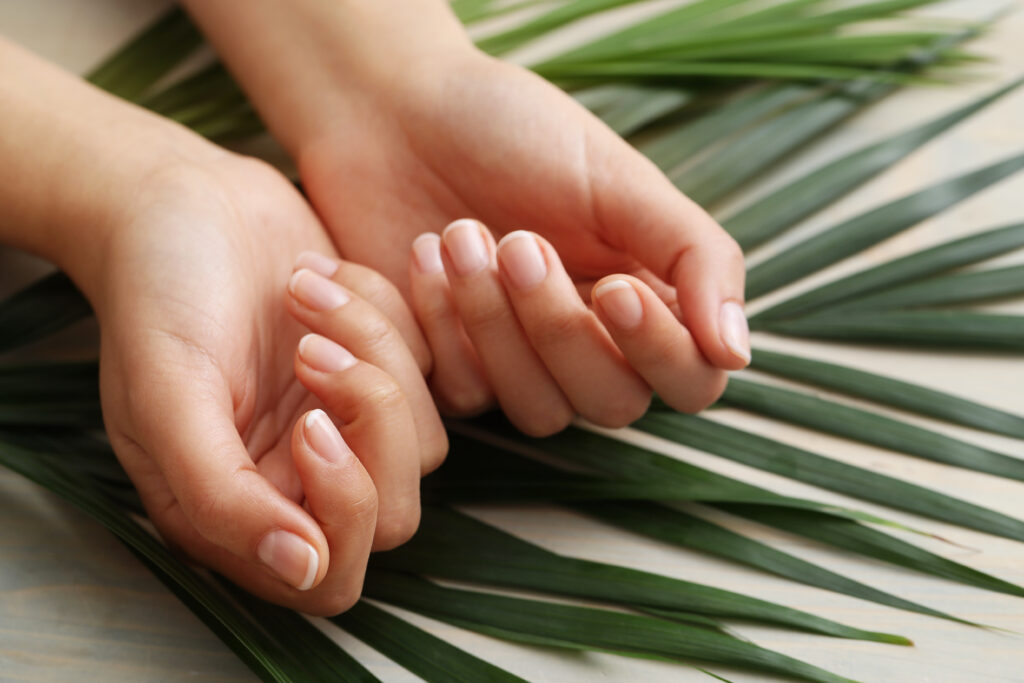
[[[377,492],[324,411],[306,413],[292,431],[292,458],[306,505],[327,537],[330,560],[303,611],[324,616],[359,598],[377,521]]]

